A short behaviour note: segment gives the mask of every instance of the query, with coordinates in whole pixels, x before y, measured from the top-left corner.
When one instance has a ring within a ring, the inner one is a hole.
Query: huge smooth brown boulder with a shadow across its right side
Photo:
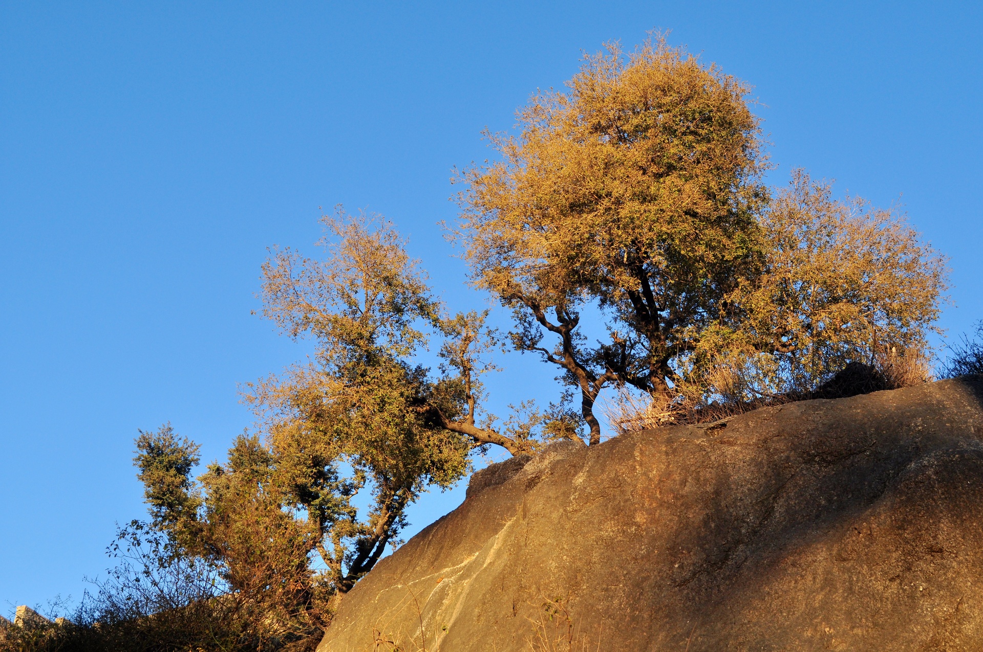
[[[476,473],[318,652],[981,650],[981,510],[983,377],[555,445]]]

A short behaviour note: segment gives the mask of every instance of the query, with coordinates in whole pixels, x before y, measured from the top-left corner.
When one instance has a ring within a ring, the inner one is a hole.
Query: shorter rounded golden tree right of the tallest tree
[[[743,365],[752,397],[808,394],[850,362],[896,374],[914,366],[924,379],[946,259],[901,215],[838,201],[829,184],[796,170],[763,227],[765,266],[728,295],[724,321],[734,330],[715,344],[732,368]]]

